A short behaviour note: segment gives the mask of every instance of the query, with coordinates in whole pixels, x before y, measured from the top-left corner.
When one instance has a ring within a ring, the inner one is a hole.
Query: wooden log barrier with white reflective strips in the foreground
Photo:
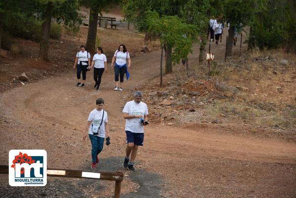
[[[8,165],[0,165],[0,174],[8,174]],[[123,172],[94,172],[83,170],[57,169],[47,168],[47,176],[49,177],[70,177],[115,181],[114,198],[120,198],[121,181],[123,180]]]

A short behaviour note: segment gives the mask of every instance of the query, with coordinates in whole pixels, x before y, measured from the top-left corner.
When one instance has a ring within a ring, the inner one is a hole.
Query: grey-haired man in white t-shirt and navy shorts
[[[144,126],[148,124],[148,107],[141,102],[143,93],[134,92],[135,99],[125,104],[122,112],[126,119],[126,156],[123,160],[123,167],[135,171],[134,161],[137,156],[138,146],[143,146]],[[131,155],[131,157],[130,157]]]

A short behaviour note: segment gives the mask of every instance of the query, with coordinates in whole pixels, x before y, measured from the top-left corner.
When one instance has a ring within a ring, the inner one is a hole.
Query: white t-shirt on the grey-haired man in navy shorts
[[[144,102],[136,103],[134,100],[127,102],[122,110],[123,113],[128,115],[138,116],[148,115],[148,107]],[[140,119],[126,119],[125,130],[133,133],[144,133],[144,126],[140,123]]]

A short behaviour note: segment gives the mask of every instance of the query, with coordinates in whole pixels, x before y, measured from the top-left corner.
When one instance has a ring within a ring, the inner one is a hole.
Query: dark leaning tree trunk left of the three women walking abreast
[[[42,23],[41,40],[39,47],[39,57],[48,61],[48,48],[49,48],[49,33],[51,24],[51,14],[53,9],[53,3],[48,2],[46,6],[46,11],[44,13],[44,22]]]

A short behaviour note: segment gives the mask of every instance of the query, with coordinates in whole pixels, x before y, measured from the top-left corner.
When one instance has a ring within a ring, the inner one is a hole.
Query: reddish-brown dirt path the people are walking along
[[[214,46],[213,52],[222,54],[222,44]],[[113,91],[113,72],[109,68],[103,76],[100,91],[93,88],[92,72],[88,73],[85,88],[75,87],[73,72],[3,93],[0,96],[0,110],[3,112],[0,117],[3,120],[0,164],[7,164],[10,149],[45,149],[48,167],[89,169],[91,147],[84,128],[89,112],[95,108],[95,100],[103,97],[106,101],[104,109],[109,114],[111,145],[105,146],[100,155],[106,160],[111,158],[113,170],[120,170],[120,157],[124,156],[125,150],[121,110],[135,87],[149,86],[148,80],[158,76],[159,57],[160,52],[155,51],[133,58],[131,79],[123,85],[123,92]],[[189,63],[196,62],[197,58],[196,45]],[[137,157],[137,168],[144,171],[126,172],[127,180],[122,184],[125,197],[151,197],[148,196],[149,188],[153,185],[161,188],[153,198],[292,198],[296,195],[295,143],[215,134],[215,131],[208,130],[193,131],[153,123],[146,127],[145,146]],[[111,164],[103,160],[98,170]],[[141,177],[141,174],[148,176],[149,173],[152,174],[150,179]],[[153,174],[158,175],[156,182]],[[15,193],[14,188],[7,186],[8,179],[3,176],[1,179],[3,192],[8,189],[7,192]],[[143,190],[139,184],[145,182],[153,185]],[[49,183],[58,184],[58,181],[50,179]],[[92,191],[87,189],[90,183],[81,184],[73,180],[72,184],[84,197],[90,197]],[[104,183],[103,186],[101,190],[105,193],[113,190],[112,183]],[[62,190],[61,197],[69,197],[74,191]],[[27,191],[24,197],[28,195]],[[78,193],[77,197],[82,195]],[[50,196],[48,193],[47,197]]]

